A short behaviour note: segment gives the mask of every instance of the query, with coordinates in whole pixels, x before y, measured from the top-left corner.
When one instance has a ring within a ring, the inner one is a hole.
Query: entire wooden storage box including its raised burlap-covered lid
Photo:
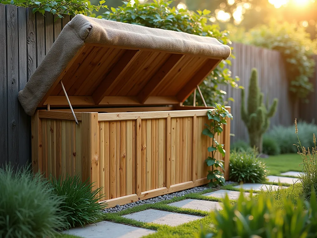
[[[206,184],[208,108],[182,103],[229,55],[215,38],[75,16],[19,92],[35,171],[89,178],[110,207]],[[230,122],[217,140],[230,150]]]

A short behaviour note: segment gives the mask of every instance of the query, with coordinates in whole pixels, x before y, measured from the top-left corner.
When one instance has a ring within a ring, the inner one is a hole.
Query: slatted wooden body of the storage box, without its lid
[[[90,177],[109,207],[200,186],[210,170],[204,161],[211,139],[202,135],[207,110],[76,112],[79,125],[71,112],[38,110],[32,164],[45,175]],[[217,141],[230,151],[230,121]],[[228,178],[229,153],[217,159]]]

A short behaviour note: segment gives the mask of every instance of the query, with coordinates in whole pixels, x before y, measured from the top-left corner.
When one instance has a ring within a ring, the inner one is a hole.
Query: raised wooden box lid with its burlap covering
[[[62,81],[74,107],[178,104],[229,55],[215,38],[76,16],[19,100],[29,115],[68,107]]]

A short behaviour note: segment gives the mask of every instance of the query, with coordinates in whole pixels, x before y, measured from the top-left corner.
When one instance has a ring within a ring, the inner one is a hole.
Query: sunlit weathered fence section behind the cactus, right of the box
[[[273,98],[278,98],[277,112],[271,118],[270,128],[274,125],[290,125],[294,120],[292,118],[293,108],[289,100],[288,81],[283,60],[278,51],[263,49],[260,47],[233,43],[232,53],[236,59],[232,60],[230,70],[232,76],[239,76],[239,85],[245,87],[246,100],[248,96],[248,87],[251,76],[251,69],[256,68],[259,76],[259,86],[264,93],[264,101],[269,98],[271,104]],[[229,102],[233,121],[231,122],[231,142],[239,139],[248,141],[248,131],[241,120],[241,90],[234,89],[231,86],[223,88],[229,97],[233,97],[235,102]],[[270,105],[269,104],[269,105]]]

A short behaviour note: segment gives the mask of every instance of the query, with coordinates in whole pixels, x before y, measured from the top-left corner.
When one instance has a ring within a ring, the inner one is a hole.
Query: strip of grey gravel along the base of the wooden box
[[[234,183],[234,182],[227,181],[225,183],[225,185],[232,184],[232,183]],[[220,188],[220,187],[218,186],[218,188]],[[158,196],[158,197],[153,197],[153,198],[146,199],[146,200],[140,200],[140,201],[137,201],[137,202],[128,203],[128,204],[122,205],[122,206],[116,205],[114,208],[104,209],[103,212],[104,213],[120,212],[120,211],[126,210],[128,208],[133,208],[133,207],[140,206],[140,205],[143,205],[143,204],[154,204],[156,202],[162,202],[162,201],[166,201],[166,200],[171,200],[174,197],[181,197],[181,196],[184,196],[184,195],[189,194],[189,193],[203,192],[206,189],[209,189],[209,187],[207,185],[200,186],[200,187],[195,187],[195,188],[190,188],[190,189],[186,189],[186,190],[179,191],[179,192],[176,192],[176,193],[166,194],[166,195],[163,195],[163,196]]]

